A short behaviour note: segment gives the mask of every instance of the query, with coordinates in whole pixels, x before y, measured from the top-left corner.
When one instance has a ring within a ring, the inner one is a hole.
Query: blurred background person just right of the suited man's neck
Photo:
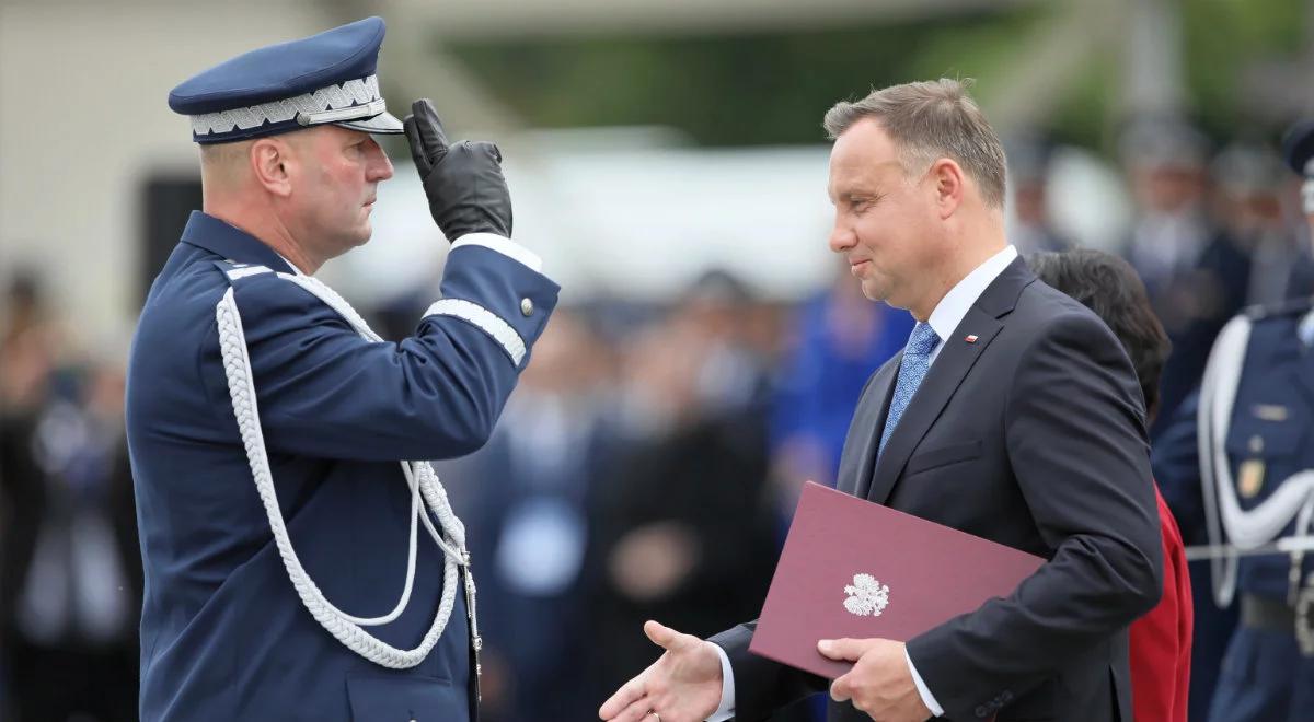
[[[1054,228],[1049,210],[1050,158],[1054,144],[1038,134],[1018,134],[1007,143],[1008,180],[1013,189],[1009,238],[1024,256],[1064,251],[1072,242]]]

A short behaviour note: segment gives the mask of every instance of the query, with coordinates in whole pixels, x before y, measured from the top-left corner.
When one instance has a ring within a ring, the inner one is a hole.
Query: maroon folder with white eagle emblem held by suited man
[[[853,664],[821,656],[819,639],[907,642],[1010,595],[1043,563],[808,482],[749,651],[834,679]]]

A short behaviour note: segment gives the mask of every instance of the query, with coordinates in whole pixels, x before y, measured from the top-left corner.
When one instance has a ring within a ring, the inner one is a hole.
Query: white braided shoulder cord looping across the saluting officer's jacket
[[[332,291],[315,278],[280,273],[279,276],[296,282],[309,293],[314,294],[334,311],[342,315],[357,333],[369,341],[380,341],[369,326],[340,295]],[[223,370],[227,377],[229,394],[233,399],[233,412],[238,421],[242,442],[246,448],[247,462],[255,479],[256,492],[265,508],[269,519],[269,529],[273,533],[275,545],[283,559],[284,568],[301,603],[310,612],[311,617],[319,622],[330,634],[350,650],[360,656],[382,667],[401,669],[419,664],[438,643],[439,637],[447,626],[452,608],[456,603],[457,567],[465,566],[466,604],[470,616],[472,642],[476,650],[482,646],[476,626],[474,614],[474,584],[469,575],[469,554],[465,551],[465,528],[452,512],[447,492],[443,490],[438,475],[428,462],[401,462],[406,483],[411,490],[411,528],[410,551],[406,571],[406,584],[397,608],[384,617],[361,618],[347,614],[334,606],[310,579],[292,546],[283,512],[279,507],[277,494],[273,487],[273,475],[269,467],[269,458],[265,452],[264,433],[260,427],[259,411],[256,407],[255,383],[251,372],[251,358],[246,347],[246,336],[242,329],[242,316],[238,311],[233,289],[215,306],[215,320],[218,323],[219,349],[223,356]],[[423,498],[428,509],[438,517],[439,525],[447,532],[447,540],[434,526],[430,515],[419,508]],[[434,541],[443,549],[443,595],[434,624],[424,634],[420,643],[413,650],[399,650],[369,634],[361,626],[377,626],[394,621],[410,601],[411,587],[415,576],[417,558],[417,520],[423,521],[426,530]]]

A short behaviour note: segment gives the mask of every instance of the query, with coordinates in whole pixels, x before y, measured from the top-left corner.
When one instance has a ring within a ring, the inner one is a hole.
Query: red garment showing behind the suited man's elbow
[[[1187,722],[1190,688],[1190,578],[1181,532],[1159,487],[1163,599],[1131,624],[1131,706],[1137,722]]]

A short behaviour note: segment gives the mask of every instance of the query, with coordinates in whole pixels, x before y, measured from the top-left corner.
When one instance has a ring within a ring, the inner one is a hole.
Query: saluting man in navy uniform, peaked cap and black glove
[[[127,437],[146,592],[141,713],[465,721],[478,626],[465,532],[423,461],[481,446],[557,298],[512,243],[501,156],[402,123],[372,17],[184,81],[204,210],[151,286]],[[405,133],[452,240],[440,298],[382,341],[313,278],[365,243]]]

